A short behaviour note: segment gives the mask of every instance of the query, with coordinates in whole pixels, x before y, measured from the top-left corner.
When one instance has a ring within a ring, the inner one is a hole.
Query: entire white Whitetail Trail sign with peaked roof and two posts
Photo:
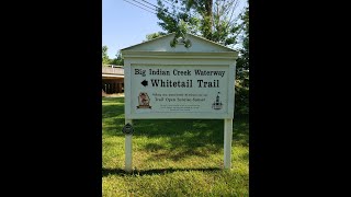
[[[237,51],[191,34],[191,47],[170,47],[173,37],[122,49],[125,123],[224,119],[224,166],[230,169]],[[132,171],[132,135],[126,135],[125,171]]]

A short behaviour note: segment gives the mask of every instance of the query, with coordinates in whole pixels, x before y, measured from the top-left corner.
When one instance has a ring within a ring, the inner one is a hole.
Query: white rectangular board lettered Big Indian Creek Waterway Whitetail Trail
[[[133,119],[233,118],[234,67],[132,65],[127,74]]]

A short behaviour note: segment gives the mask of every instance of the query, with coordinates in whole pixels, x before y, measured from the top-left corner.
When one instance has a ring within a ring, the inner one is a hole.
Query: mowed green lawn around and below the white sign
[[[234,119],[223,170],[224,120],[134,120],[133,173],[124,172],[124,99],[102,99],[103,196],[249,196],[248,118]]]

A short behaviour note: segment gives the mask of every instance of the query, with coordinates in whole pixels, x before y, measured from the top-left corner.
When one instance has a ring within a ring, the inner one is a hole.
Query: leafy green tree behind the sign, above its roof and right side
[[[249,2],[245,11],[234,18],[238,0],[158,0],[158,24],[177,37],[192,33],[234,48],[241,44],[236,70],[236,113],[249,113]]]

